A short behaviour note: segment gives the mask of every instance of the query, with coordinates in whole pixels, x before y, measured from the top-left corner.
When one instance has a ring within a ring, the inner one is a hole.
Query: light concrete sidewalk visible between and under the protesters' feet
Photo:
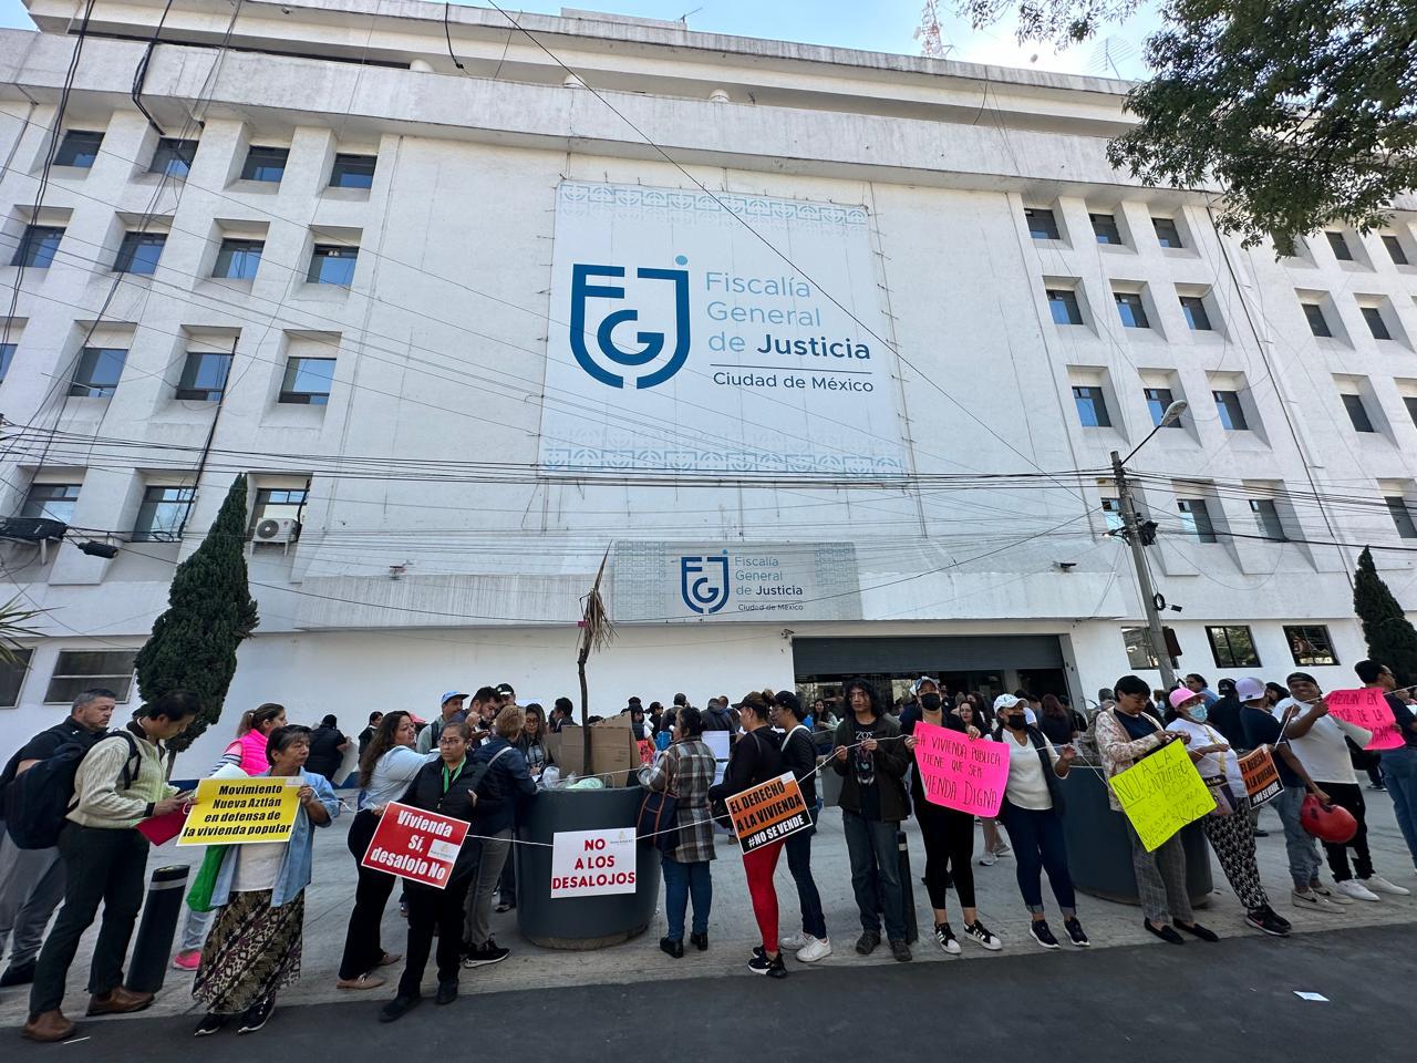
[[[1386,794],[1365,792],[1367,798],[1369,836],[1373,862],[1377,873],[1417,894],[1417,876],[1407,848],[1397,831],[1391,801]],[[340,952],[344,947],[344,928],[354,899],[354,862],[344,848],[344,833],[351,816],[341,815],[327,829],[316,832],[315,882],[306,894],[305,958],[300,982],[281,995],[282,1005],[322,1003],[333,1001],[364,999],[371,1006],[377,1001],[393,996],[393,985],[385,988],[350,992],[334,985]],[[1284,835],[1278,816],[1265,811],[1261,826],[1271,831],[1268,838],[1258,839],[1260,869],[1270,890],[1275,910],[1294,923],[1295,933],[1326,931],[1345,927],[1417,924],[1417,896],[1387,897],[1380,903],[1355,903],[1342,913],[1318,913],[1291,907],[1288,862],[1284,852]],[[907,821],[910,836],[911,867],[915,879],[915,910],[920,921],[921,940],[915,945],[915,962],[958,962],[978,961],[1000,955],[1040,954],[1027,935],[1029,917],[1019,897],[1012,856],[999,860],[993,867],[975,866],[975,882],[981,918],[1003,938],[1003,952],[985,952],[969,941],[964,943],[962,957],[947,957],[934,944],[930,906],[920,876],[924,873],[925,856],[915,822]],[[976,856],[982,852],[982,839],[975,840]],[[190,850],[179,850],[173,845],[154,849],[150,867],[170,863],[191,862]],[[1213,859],[1213,857],[1212,857]],[[842,838],[839,809],[826,809],[820,829],[812,846],[812,866],[822,903],[826,911],[828,930],[832,934],[833,954],[816,967],[877,967],[894,965],[890,952],[879,950],[873,957],[856,955],[852,945],[860,933],[856,904],[852,897],[850,870],[846,857],[846,842]],[[1214,865],[1217,892],[1200,917],[1202,921],[1221,937],[1253,935],[1264,937],[1244,926],[1244,910],[1234,900],[1224,874]],[[1325,879],[1328,872],[1325,869]],[[669,978],[726,977],[745,974],[751,948],[758,944],[757,924],[748,903],[747,884],[743,874],[737,846],[727,838],[718,840],[718,859],[713,865],[714,897],[710,920],[707,952],[690,951],[683,960],[672,960],[659,951],[657,943],[665,933],[663,913],[656,913],[650,928],[623,945],[597,952],[558,952],[531,945],[516,930],[516,913],[493,916],[495,937],[509,947],[512,955],[502,964],[476,972],[463,972],[465,994],[503,992],[516,989],[541,989],[567,985],[652,982]],[[798,928],[796,889],[786,872],[786,860],[778,867],[778,897],[782,904],[782,933]],[[1044,900],[1053,910],[1053,897],[1044,883]],[[955,897],[951,894],[951,917],[955,931],[961,930],[961,918]],[[1142,928],[1141,910],[1114,904],[1093,897],[1078,897],[1078,917],[1093,940],[1093,951],[1121,945],[1155,945],[1173,948],[1156,941]],[[1061,933],[1060,920],[1053,913],[1054,926]],[[79,1019],[84,1015],[86,998],[84,984],[88,974],[88,957],[95,930],[85,937],[79,958],[69,971],[69,994],[65,1001],[67,1013]],[[1267,940],[1274,948],[1284,950],[1285,941]],[[384,918],[384,947],[404,951],[404,923],[398,906],[390,901]],[[1190,948],[1203,947],[1190,943]],[[1070,951],[1064,945],[1064,952]],[[811,971],[789,960],[794,971]],[[397,974],[398,968],[393,968]],[[431,984],[432,971],[428,974]],[[393,979],[391,979],[393,982]],[[200,1008],[190,996],[191,975],[169,971],[164,989],[159,994],[150,1015],[198,1015]],[[24,1022],[28,992],[26,988],[6,989],[0,998],[0,1026],[18,1026]],[[116,1019],[122,1022],[123,1019]]]

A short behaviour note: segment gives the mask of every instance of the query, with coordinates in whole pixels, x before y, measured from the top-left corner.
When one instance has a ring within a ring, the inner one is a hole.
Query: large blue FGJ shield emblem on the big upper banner
[[[679,255],[674,262],[687,265],[689,259]],[[605,369],[587,349],[589,329],[585,325],[587,299],[623,299],[625,288],[621,285],[595,283],[599,278],[623,278],[625,266],[589,265],[577,262],[571,266],[571,351],[575,360],[595,380],[609,387],[625,387],[625,377]],[[655,387],[673,377],[689,357],[689,271],[687,269],[655,269],[640,266],[635,271],[640,281],[669,281],[674,285],[674,350],[665,364],[635,377],[636,388]],[[638,322],[639,310],[629,308],[606,313],[594,329],[595,346],[599,354],[616,367],[636,369],[649,366],[665,353],[665,333],[638,332],[636,340],[642,344],[639,350],[621,350],[615,346],[612,333],[626,322]]]

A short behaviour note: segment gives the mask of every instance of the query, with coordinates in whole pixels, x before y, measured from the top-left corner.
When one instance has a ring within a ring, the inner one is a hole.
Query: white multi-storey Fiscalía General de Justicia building
[[[237,472],[252,529],[296,523],[252,543],[261,626],[191,772],[264,700],[354,731],[574,696],[606,550],[592,712],[1155,682],[1107,466],[1173,398],[1129,468],[1183,672],[1352,682],[1332,543],[1417,598],[1417,203],[1275,261],[1214,190],[1108,167],[1121,82],[574,11],[453,6],[449,50],[412,0],[176,0],[156,37],[157,0],[27,3],[0,486],[69,532],[0,544],[47,609],[3,755],[85,686],[137,704]]]

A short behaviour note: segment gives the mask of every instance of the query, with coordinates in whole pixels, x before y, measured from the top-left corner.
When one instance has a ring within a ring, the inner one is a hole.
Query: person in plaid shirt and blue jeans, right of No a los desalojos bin
[[[655,764],[640,771],[639,781],[677,798],[679,843],[662,856],[669,933],[659,947],[679,960],[684,954],[684,913],[690,896],[694,899],[694,928],[689,941],[700,952],[708,948],[708,909],[713,906],[708,862],[714,859],[708,787],[713,785],[714,760],[713,750],[700,737],[703,717],[699,710],[680,706],[673,716],[673,741]]]

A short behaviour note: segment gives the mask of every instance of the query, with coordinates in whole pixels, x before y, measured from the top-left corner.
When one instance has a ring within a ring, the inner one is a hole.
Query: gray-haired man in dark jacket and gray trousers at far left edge
[[[38,784],[47,772],[18,780],[65,747],[79,755],[79,751],[86,753],[108,731],[115,704],[112,690],[85,690],[74,699],[67,720],[30,738],[0,774],[0,809],[11,789],[16,791],[17,806],[33,804],[20,791],[33,789],[31,784]],[[16,821],[14,835],[10,826],[7,821],[0,828],[0,955],[4,954],[6,943],[10,943],[10,965],[0,974],[0,986],[34,981],[34,962],[44,941],[44,928],[64,900],[64,863],[60,860],[58,846],[21,848],[16,835],[26,840],[24,826]]]

